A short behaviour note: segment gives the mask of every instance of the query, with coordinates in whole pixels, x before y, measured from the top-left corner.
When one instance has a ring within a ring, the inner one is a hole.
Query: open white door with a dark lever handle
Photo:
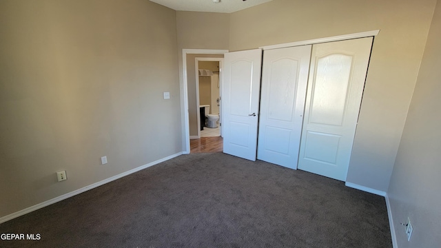
[[[223,152],[256,161],[262,50],[229,52],[223,69]]]

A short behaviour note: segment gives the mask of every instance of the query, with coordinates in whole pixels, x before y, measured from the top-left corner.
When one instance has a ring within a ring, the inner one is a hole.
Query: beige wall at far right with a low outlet
[[[441,244],[440,40],[438,1],[388,192],[400,248]],[[408,216],[413,223],[410,242],[399,225]]]

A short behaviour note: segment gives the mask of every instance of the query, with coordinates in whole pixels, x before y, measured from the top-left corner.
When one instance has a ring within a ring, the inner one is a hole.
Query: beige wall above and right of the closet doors
[[[347,181],[386,192],[435,2],[274,0],[231,14],[229,50],[380,30]]]

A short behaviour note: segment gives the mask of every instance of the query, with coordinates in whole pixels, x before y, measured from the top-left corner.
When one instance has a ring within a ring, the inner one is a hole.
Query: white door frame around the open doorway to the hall
[[[187,54],[225,54],[229,50],[209,50],[209,49],[183,49],[182,61],[179,66],[179,81],[181,90],[181,132],[183,154],[190,153],[190,127],[188,116],[188,82],[187,82]]]

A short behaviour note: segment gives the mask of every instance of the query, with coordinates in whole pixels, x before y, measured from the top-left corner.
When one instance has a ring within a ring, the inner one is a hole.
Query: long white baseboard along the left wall
[[[183,154],[182,152],[178,152],[177,154],[173,154],[173,155],[167,156],[165,158],[158,159],[157,161],[153,161],[151,163],[147,163],[146,165],[141,165],[140,167],[136,167],[134,169],[130,169],[127,172],[123,172],[123,173],[118,174],[116,176],[112,176],[110,178],[101,180],[98,183],[93,183],[91,185],[82,187],[81,189],[76,189],[73,192],[69,192],[67,194],[63,194],[62,196],[57,196],[57,197],[52,198],[50,200],[46,200],[43,203],[39,203],[37,205],[33,205],[32,207],[28,207],[28,208],[25,208],[23,210],[17,211],[15,213],[9,214],[7,216],[3,216],[3,217],[0,218],[0,224],[6,222],[8,220],[12,220],[13,218],[17,218],[19,216],[22,216],[24,214],[28,214],[28,213],[30,213],[32,211],[37,210],[37,209],[41,209],[42,207],[46,207],[48,205],[51,205],[51,204],[54,204],[54,203],[58,203],[61,200],[70,198],[70,197],[75,196],[77,194],[81,194],[81,193],[86,192],[86,191],[88,191],[90,189],[93,189],[95,187],[99,187],[101,185],[105,185],[106,183],[110,183],[113,180],[116,180],[116,179],[122,178],[124,176],[130,175],[130,174],[132,174],[134,172],[139,172],[141,169],[145,169],[147,167],[150,167],[150,166],[153,166],[153,165],[157,165],[158,163],[162,163],[162,162],[167,161],[169,159],[176,158],[177,156],[180,156],[182,154]]]

